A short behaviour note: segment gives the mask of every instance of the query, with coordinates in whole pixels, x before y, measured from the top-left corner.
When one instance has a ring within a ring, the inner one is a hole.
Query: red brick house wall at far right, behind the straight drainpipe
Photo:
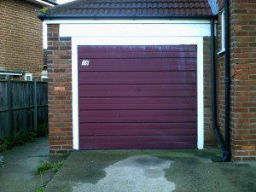
[[[223,1],[219,1],[220,9]],[[256,160],[256,3],[230,1],[230,144],[233,160]],[[220,16],[218,19],[220,23]],[[219,48],[220,48],[220,29]],[[218,55],[219,116],[224,130],[224,53]]]

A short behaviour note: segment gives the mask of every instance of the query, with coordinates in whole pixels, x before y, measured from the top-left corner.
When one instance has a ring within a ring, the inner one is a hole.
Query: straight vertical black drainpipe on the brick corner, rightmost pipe
[[[222,161],[230,161],[230,1],[224,0],[224,18],[225,18],[225,153]]]

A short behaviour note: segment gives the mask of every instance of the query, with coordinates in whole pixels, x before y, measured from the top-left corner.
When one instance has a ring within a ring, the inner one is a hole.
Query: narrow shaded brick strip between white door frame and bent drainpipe
[[[212,128],[212,63],[211,39],[204,38],[204,148],[217,147],[217,138]]]

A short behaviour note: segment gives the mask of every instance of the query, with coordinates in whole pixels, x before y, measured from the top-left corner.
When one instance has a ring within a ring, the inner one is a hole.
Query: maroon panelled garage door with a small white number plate
[[[79,46],[79,148],[196,148],[196,46]]]

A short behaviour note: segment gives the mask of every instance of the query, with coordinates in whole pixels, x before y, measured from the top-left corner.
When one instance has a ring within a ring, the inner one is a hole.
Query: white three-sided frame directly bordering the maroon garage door
[[[203,37],[73,37],[72,84],[73,84],[73,148],[79,149],[79,45],[197,45],[197,148],[204,147],[204,96],[203,96]]]

